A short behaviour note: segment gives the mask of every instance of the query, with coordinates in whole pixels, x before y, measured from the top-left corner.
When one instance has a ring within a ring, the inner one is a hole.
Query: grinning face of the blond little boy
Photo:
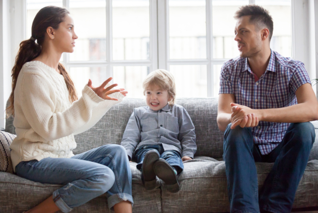
[[[157,111],[163,108],[171,101],[168,91],[161,90],[158,86],[146,88],[146,102],[147,105]]]

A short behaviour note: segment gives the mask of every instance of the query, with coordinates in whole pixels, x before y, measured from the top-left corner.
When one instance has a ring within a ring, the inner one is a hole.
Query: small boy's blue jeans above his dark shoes
[[[174,150],[164,151],[161,144],[141,146],[138,150],[136,150],[134,158],[138,163],[137,168],[139,170],[142,168],[145,155],[150,150],[157,151],[161,159],[166,160],[169,165],[175,168],[177,174],[180,174],[183,171],[183,162],[181,160],[180,153]]]

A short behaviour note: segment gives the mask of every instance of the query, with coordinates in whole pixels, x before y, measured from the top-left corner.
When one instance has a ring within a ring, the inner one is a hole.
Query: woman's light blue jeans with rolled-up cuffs
[[[70,159],[22,161],[15,169],[28,180],[65,185],[53,192],[55,204],[64,213],[104,193],[109,209],[121,201],[133,204],[129,160],[119,145],[104,145]]]

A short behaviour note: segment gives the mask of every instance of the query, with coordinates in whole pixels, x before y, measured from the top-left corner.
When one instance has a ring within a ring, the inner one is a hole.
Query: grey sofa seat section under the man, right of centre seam
[[[256,163],[259,189],[272,166],[273,163]],[[164,183],[160,183],[162,213],[230,212],[224,161],[188,160],[178,180],[181,187],[178,193],[168,192]],[[318,207],[317,182],[318,160],[312,160],[297,189],[293,209]]]

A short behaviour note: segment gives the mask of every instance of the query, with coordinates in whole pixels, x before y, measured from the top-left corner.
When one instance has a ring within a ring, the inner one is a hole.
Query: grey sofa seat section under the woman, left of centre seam
[[[161,213],[161,193],[159,179],[156,189],[147,191],[142,184],[141,172],[135,162],[130,162],[132,170],[132,192],[134,212]],[[0,172],[0,213],[21,213],[44,201],[61,188],[59,184],[33,182],[15,174]],[[109,213],[106,194],[74,209],[76,213]],[[61,213],[61,212],[59,212]]]

